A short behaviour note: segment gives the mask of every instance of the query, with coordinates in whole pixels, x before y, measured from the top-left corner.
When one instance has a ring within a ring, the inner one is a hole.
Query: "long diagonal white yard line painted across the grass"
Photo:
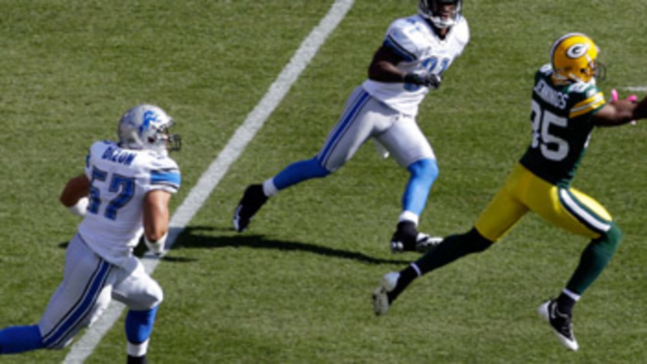
[[[182,233],[184,227],[191,221],[197,210],[203,205],[220,180],[225,176],[229,167],[243,153],[247,144],[254,138],[256,132],[263,126],[265,120],[272,114],[276,106],[283,100],[292,84],[297,80],[303,69],[311,62],[316,52],[323,45],[325,39],[333,32],[344,19],[346,13],[353,6],[354,0],[336,0],[328,13],[313,31],[303,40],[299,49],[294,53],[290,62],[270,85],[265,96],[256,107],[247,115],[247,119],[236,133],[229,139],[225,149],[216,157],[209,168],[197,181],[195,187],[182,201],[169,223],[167,247],[171,247]],[[159,258],[145,255],[142,259],[146,271],[153,273]],[[117,301],[111,301],[104,314],[88,328],[65,356],[63,363],[83,363],[94,351],[102,337],[110,330],[115,321],[120,317],[126,306]]]

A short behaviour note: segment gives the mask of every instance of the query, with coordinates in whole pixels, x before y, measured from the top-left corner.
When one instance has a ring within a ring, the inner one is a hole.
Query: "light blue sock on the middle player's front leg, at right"
[[[411,177],[402,195],[402,210],[422,214],[427,203],[429,190],[438,177],[438,165],[435,159],[421,159],[407,167]]]

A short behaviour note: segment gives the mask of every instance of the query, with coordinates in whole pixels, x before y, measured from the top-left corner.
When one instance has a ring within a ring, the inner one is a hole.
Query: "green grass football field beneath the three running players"
[[[388,315],[373,314],[380,277],[418,255],[389,251],[408,174],[372,143],[331,176],[281,192],[249,231],[234,232],[232,212],[245,187],[318,152],[389,23],[417,6],[347,1],[352,7],[329,25],[329,36],[311,54],[298,53],[333,3],[0,0],[0,328],[38,322],[79,222],[58,202],[63,185],[83,172],[91,142],[115,139],[122,113],[149,102],[166,109],[182,135],[173,155],[182,188],[171,213],[182,211],[192,190],[207,193],[156,262],[165,300],[151,363],[644,362],[641,122],[595,130],[573,183],[623,232],[576,306],[579,352],[560,346],[536,308],[563,288],[587,240],[531,214],[485,253],[414,282]],[[645,6],[465,0],[470,44],[418,117],[440,168],[420,229],[463,232],[496,192],[531,141],[532,76],[562,34],[597,41],[606,95],[646,89]],[[290,69],[294,62],[303,69]],[[258,131],[246,129],[242,141],[238,130],[250,119]],[[205,174],[218,158],[226,170]],[[196,189],[201,176],[218,178],[210,194]],[[123,324],[121,315],[85,363],[125,361]],[[41,350],[0,363],[61,363],[69,354]]]

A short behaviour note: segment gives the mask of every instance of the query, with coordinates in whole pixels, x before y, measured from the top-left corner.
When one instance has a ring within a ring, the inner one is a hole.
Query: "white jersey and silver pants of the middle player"
[[[465,49],[469,30],[464,17],[443,39],[421,16],[397,19],[389,26],[384,45],[402,56],[396,67],[405,72],[443,72]],[[435,159],[433,149],[417,126],[418,106],[428,87],[366,80],[346,102],[342,118],[325,142],[317,159],[334,171],[344,165],[369,137],[375,137],[400,166],[424,158]],[[279,187],[281,189],[281,187]]]

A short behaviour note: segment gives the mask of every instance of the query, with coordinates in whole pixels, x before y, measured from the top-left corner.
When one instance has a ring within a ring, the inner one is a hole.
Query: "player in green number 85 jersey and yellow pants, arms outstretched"
[[[562,229],[591,239],[564,290],[538,309],[560,342],[578,349],[571,322],[573,306],[607,265],[621,235],[609,212],[571,187],[571,179],[594,126],[619,126],[647,117],[647,98],[606,102],[595,84],[605,71],[597,58],[598,47],[584,34],[569,33],[555,41],[551,63],[543,65],[534,77],[532,141],[525,154],[470,231],[445,237],[410,266],[382,277],[373,292],[376,314],[386,313],[413,279],[461,256],[484,251],[533,211]]]

